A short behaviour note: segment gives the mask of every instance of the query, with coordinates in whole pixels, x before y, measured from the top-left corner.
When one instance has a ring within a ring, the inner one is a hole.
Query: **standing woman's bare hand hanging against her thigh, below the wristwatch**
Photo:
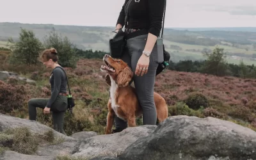
[[[140,76],[140,74],[141,76],[143,76],[143,74],[147,74],[148,65],[149,65],[149,57],[147,57],[145,54],[142,54],[140,56],[140,59],[138,60],[135,74],[137,76]]]

